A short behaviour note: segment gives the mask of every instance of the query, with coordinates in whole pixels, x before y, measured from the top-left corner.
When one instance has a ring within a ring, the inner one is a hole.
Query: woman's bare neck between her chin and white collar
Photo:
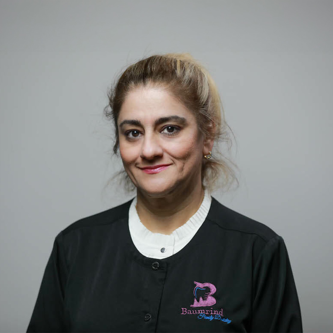
[[[182,226],[200,207],[204,190],[201,183],[192,189],[151,198],[137,192],[137,212],[142,224],[150,231],[169,235]]]

